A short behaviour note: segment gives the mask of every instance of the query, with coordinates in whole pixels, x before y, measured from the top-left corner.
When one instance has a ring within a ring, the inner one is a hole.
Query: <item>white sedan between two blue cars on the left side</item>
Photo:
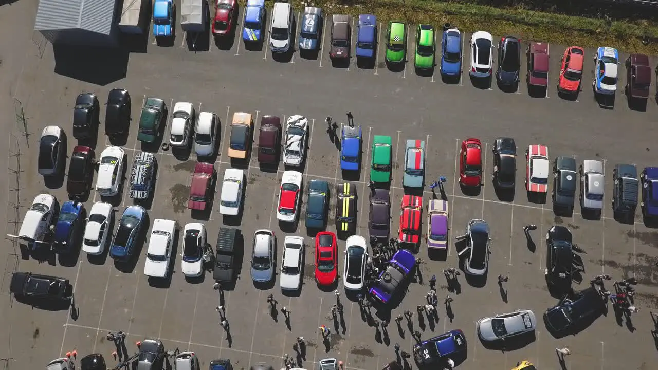
[[[113,218],[114,209],[110,203],[103,201],[93,203],[84,228],[82,251],[94,255],[103,253],[107,236],[112,234],[110,226]]]

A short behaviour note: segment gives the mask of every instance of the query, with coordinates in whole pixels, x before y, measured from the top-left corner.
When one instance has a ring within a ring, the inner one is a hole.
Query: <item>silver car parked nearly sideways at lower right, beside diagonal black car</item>
[[[513,313],[484,317],[476,327],[481,340],[491,342],[534,331],[537,319],[529,309],[519,309]]]

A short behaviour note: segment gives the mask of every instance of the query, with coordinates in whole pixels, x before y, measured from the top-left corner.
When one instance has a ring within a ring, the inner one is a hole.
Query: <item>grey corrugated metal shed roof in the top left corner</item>
[[[82,29],[109,35],[116,0],[41,0],[34,30]]]

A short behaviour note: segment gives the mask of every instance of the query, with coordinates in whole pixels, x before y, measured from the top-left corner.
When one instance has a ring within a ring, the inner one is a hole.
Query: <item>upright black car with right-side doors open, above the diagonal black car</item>
[[[571,288],[573,236],[565,226],[555,225],[546,233],[546,282],[562,291]]]

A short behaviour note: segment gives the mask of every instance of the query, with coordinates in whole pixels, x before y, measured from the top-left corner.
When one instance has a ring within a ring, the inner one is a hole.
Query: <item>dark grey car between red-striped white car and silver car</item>
[[[573,157],[555,157],[553,161],[553,208],[567,212],[574,209],[576,197],[576,159]]]

